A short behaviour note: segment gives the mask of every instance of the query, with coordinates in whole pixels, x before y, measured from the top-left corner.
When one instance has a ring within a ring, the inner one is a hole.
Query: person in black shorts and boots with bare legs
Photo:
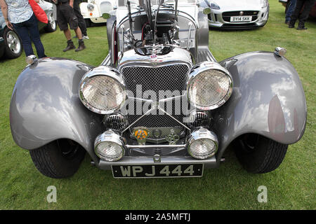
[[[78,25],[78,18],[74,14],[74,0],[59,0],[57,4],[57,23],[61,31],[64,32],[67,39],[67,47],[62,50],[66,52],[67,50],[72,50],[76,48],[74,42],[72,42],[72,34],[70,29],[73,29],[78,37],[79,46],[75,50],[76,52],[84,50],[86,46],[84,45],[84,40],[82,39],[81,29]],[[69,24],[69,27],[68,27]],[[70,28],[70,29],[69,29]]]

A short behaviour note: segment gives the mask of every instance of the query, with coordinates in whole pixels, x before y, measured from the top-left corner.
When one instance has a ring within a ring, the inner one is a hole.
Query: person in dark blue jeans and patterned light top
[[[39,3],[39,0],[35,0]],[[20,38],[26,57],[34,55],[32,41],[37,49],[39,58],[47,57],[44,52],[44,46],[39,36],[38,20],[29,5],[28,0],[0,0],[4,20],[8,29],[15,29]]]

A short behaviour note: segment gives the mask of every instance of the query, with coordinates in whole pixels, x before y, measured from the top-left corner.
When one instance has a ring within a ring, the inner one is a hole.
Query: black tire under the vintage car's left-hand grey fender
[[[35,167],[45,176],[62,179],[74,175],[86,151],[79,144],[60,139],[29,151]]]

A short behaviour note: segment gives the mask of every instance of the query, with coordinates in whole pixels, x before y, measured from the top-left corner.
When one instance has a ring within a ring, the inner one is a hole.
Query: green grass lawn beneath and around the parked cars
[[[284,7],[270,0],[270,18],[261,29],[211,30],[209,47],[218,61],[253,50],[287,48],[308,104],[305,135],[289,146],[284,162],[268,174],[248,174],[231,149],[218,169],[197,179],[113,179],[111,171],[90,165],[86,156],[70,179],[49,179],[34,167],[28,151],[15,145],[9,125],[9,104],[25,57],[0,60],[0,209],[316,209],[315,200],[315,75],[316,22],[308,30],[288,29]],[[86,50],[62,52],[62,32],[42,34],[46,55],[77,59],[97,66],[107,55],[105,27],[88,28]],[[77,41],[75,42],[78,45]],[[24,53],[23,53],[24,54]],[[57,203],[46,201],[46,188],[57,188]],[[257,201],[258,186],[268,188],[268,202]]]

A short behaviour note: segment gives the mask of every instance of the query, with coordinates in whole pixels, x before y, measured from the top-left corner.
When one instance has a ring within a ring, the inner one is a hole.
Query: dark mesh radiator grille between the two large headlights
[[[185,76],[189,69],[187,64],[167,64],[164,66],[124,66],[124,68],[121,69],[121,72],[126,79],[128,89],[133,92],[134,97],[143,98],[143,96],[136,95],[136,85],[141,85],[142,93],[147,90],[152,90],[156,93],[158,101],[159,90],[170,90],[169,93],[178,90],[180,94],[182,94],[182,90],[184,90]],[[165,97],[172,96],[173,95],[171,94],[166,94]],[[165,104],[165,110],[166,105],[167,104]],[[139,114],[136,115],[137,106],[142,106],[143,108],[143,104],[136,104],[135,102],[134,114],[129,115],[129,123],[135,122],[142,116]],[[160,104],[160,106],[163,106],[163,104]],[[183,114],[180,113],[180,115],[174,115],[175,111],[175,104],[172,102],[172,116],[182,123]],[[166,137],[171,129],[173,129],[176,134],[183,132],[183,127],[177,123],[176,120],[173,120],[166,114],[159,115],[159,111],[156,111],[155,114],[146,115],[138,120],[138,122],[131,127],[131,130],[133,130],[134,127],[148,127],[150,130],[159,130],[161,133],[159,137],[154,137],[152,133],[150,134],[149,138],[152,139]]]

